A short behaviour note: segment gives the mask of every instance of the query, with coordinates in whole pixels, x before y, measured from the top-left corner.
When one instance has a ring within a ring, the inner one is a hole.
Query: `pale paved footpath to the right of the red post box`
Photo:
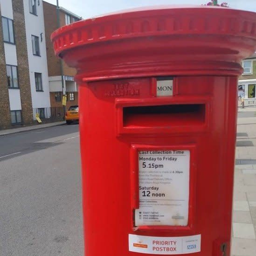
[[[256,256],[256,107],[238,110],[235,153],[231,255]]]

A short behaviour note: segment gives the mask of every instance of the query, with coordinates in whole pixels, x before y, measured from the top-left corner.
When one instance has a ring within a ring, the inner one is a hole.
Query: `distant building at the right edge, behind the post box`
[[[242,61],[243,74],[238,81],[238,97],[244,105],[256,105],[256,53]]]

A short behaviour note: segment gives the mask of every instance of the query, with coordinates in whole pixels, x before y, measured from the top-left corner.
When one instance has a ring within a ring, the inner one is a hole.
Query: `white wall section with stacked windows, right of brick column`
[[[33,118],[51,116],[42,0],[23,0]]]

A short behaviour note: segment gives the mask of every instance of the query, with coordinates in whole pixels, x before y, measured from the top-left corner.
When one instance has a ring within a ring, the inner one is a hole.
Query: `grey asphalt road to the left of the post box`
[[[0,256],[83,256],[78,125],[0,136]]]

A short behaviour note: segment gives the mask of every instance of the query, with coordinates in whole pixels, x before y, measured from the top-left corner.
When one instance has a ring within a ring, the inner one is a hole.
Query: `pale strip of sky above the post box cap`
[[[56,5],[56,0],[44,0]],[[59,6],[70,12],[88,19],[119,10],[152,5],[201,5],[210,0],[59,0]],[[256,0],[218,0],[218,3],[228,2],[235,9],[256,12]]]

